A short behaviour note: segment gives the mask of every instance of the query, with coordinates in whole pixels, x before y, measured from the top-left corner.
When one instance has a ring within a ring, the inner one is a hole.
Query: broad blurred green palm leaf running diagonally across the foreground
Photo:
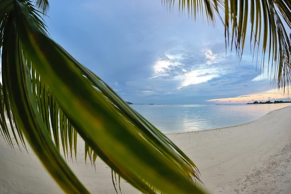
[[[21,9],[22,4],[18,5]],[[73,125],[81,137],[101,159],[110,161],[113,170],[133,184],[139,175],[145,182],[167,193],[197,190],[191,181],[194,174],[192,166],[180,159],[178,154],[176,158],[169,157],[169,154],[175,154],[173,149],[166,152],[162,146],[153,146],[148,139],[155,140],[155,137],[144,136],[145,132],[141,133],[141,129],[136,130],[132,123],[127,122],[113,104],[83,77],[71,57],[37,28],[33,29],[33,23],[25,15],[19,15],[15,21],[20,27],[16,31],[24,32],[19,34],[20,39],[25,50],[33,56],[33,65],[69,120],[74,121]],[[153,176],[157,177],[155,182],[151,180]],[[173,182],[180,184],[171,185]]]

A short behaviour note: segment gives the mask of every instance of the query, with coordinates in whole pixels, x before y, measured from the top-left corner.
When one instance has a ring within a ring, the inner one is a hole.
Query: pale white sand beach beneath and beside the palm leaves
[[[291,194],[291,107],[241,126],[169,137],[196,163],[210,193]],[[100,160],[97,172],[86,167],[81,144],[70,166],[92,193],[114,194],[110,168]],[[0,139],[0,194],[62,193],[30,153],[15,155]],[[139,193],[124,181],[121,187]]]

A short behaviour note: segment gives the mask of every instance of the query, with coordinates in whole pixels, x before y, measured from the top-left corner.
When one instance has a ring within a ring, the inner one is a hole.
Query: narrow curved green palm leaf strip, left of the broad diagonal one
[[[64,191],[88,193],[49,139],[45,125],[33,103],[30,72],[25,65],[14,21],[14,15],[10,14],[4,31],[2,78],[6,87],[3,92],[7,94],[4,99],[8,97],[11,100],[11,110],[27,141]]]

